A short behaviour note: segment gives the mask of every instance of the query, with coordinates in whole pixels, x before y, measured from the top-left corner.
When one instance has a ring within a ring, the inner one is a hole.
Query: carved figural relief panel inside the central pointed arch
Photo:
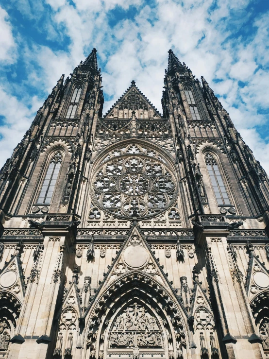
[[[155,316],[137,303],[126,307],[111,326],[109,348],[163,348]]]

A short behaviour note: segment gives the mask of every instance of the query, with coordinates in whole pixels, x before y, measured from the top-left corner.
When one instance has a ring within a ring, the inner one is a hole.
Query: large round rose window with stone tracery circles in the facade
[[[103,158],[91,188],[104,210],[124,218],[150,217],[175,201],[175,171],[155,151],[132,144]]]

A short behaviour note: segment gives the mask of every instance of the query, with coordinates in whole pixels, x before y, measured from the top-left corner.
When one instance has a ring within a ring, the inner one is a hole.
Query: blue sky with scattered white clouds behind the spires
[[[269,172],[269,1],[0,2],[0,166],[60,76],[98,50],[104,113],[131,80],[162,112],[168,50],[204,76]]]

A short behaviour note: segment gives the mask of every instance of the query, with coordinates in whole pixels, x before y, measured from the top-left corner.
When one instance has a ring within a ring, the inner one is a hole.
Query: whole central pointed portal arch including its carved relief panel
[[[86,316],[83,358],[108,359],[113,353],[126,359],[142,354],[174,359],[187,355],[185,313],[150,274],[128,272],[98,294],[96,304]],[[151,328],[146,331],[148,321]],[[153,325],[155,331],[151,330]],[[114,341],[113,333],[118,333]]]

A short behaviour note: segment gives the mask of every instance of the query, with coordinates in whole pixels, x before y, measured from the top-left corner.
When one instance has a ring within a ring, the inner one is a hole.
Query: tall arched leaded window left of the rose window
[[[61,151],[55,152],[51,157],[50,165],[46,173],[46,177],[41,188],[37,203],[50,204],[57,177],[60,171],[62,158],[63,154]]]

